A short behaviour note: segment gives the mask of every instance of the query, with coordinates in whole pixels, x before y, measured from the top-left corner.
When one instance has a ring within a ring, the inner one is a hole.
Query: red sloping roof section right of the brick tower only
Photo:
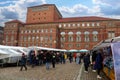
[[[88,16],[88,17],[62,18],[62,19],[59,19],[57,22],[108,21],[108,20],[120,20],[120,19],[112,19],[112,18],[97,17],[97,16]]]

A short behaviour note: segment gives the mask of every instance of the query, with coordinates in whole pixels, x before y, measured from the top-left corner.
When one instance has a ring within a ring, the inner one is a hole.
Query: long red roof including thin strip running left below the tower
[[[88,17],[69,17],[69,18],[61,18],[54,22],[36,22],[36,23],[25,23],[25,24],[46,24],[46,23],[64,23],[64,22],[89,22],[89,21],[111,21],[111,20],[119,20],[120,19],[112,19],[105,17],[97,17],[97,16],[88,16]]]

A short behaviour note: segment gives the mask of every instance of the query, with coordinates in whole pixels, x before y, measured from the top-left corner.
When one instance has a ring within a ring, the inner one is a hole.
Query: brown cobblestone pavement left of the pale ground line
[[[0,80],[76,80],[80,67],[75,62],[67,62],[50,70],[46,70],[45,65],[28,67],[27,71],[19,71],[20,67],[1,68]]]

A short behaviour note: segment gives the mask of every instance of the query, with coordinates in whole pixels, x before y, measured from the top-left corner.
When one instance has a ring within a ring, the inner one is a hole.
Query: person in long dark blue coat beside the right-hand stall
[[[101,79],[100,72],[103,68],[103,57],[100,51],[97,52],[96,60],[95,60],[95,69],[97,70],[97,78]]]

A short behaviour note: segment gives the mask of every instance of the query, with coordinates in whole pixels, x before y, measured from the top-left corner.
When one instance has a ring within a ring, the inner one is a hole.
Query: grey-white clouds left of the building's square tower
[[[11,19],[19,19],[23,22],[26,20],[27,7],[45,4],[46,0],[7,0],[0,2],[4,6],[0,7],[0,25]]]

